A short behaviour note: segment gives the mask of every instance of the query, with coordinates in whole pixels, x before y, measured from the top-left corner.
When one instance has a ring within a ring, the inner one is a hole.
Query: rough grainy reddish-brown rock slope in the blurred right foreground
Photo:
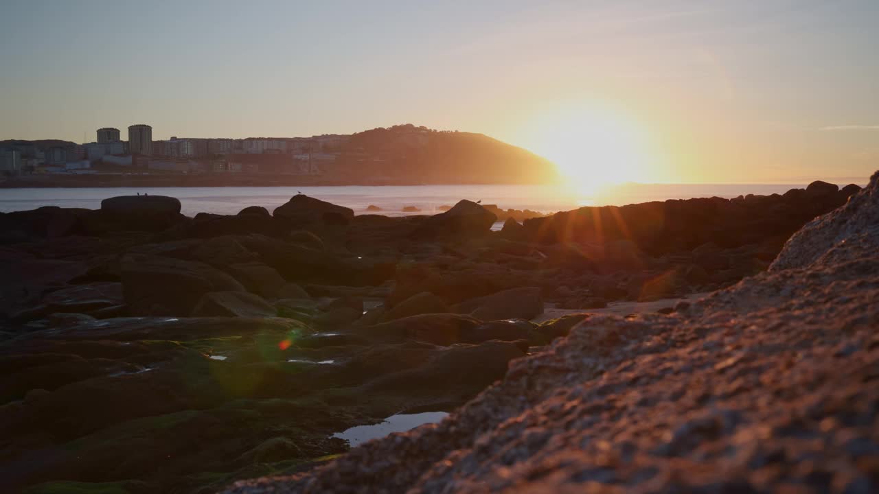
[[[439,425],[228,492],[875,492],[877,182],[771,272],[591,316]]]

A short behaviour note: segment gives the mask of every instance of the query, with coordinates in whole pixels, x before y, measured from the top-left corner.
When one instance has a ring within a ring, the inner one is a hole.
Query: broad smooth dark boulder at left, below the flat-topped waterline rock
[[[225,272],[194,261],[128,254],[120,269],[133,316],[189,316],[208,292],[245,291]]]

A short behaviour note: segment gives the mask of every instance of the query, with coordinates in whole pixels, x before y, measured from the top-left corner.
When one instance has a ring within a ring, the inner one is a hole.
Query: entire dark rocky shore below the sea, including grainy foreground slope
[[[0,214],[0,483],[875,486],[876,180],[512,212],[498,232],[466,200],[393,218],[304,195],[193,218],[160,196]],[[583,313],[531,322],[549,306]],[[336,432],[440,410],[331,461],[349,449]]]

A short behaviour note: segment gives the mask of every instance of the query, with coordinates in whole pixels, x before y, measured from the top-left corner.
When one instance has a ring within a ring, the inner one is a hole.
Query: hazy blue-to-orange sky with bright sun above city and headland
[[[876,0],[4,0],[0,139],[488,134],[580,178],[879,168]]]

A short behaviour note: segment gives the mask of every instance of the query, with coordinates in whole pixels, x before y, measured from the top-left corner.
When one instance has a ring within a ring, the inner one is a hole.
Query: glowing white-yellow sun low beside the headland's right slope
[[[534,150],[547,157],[579,194],[643,181],[649,171],[642,128],[625,113],[596,102],[544,109],[529,123]]]

